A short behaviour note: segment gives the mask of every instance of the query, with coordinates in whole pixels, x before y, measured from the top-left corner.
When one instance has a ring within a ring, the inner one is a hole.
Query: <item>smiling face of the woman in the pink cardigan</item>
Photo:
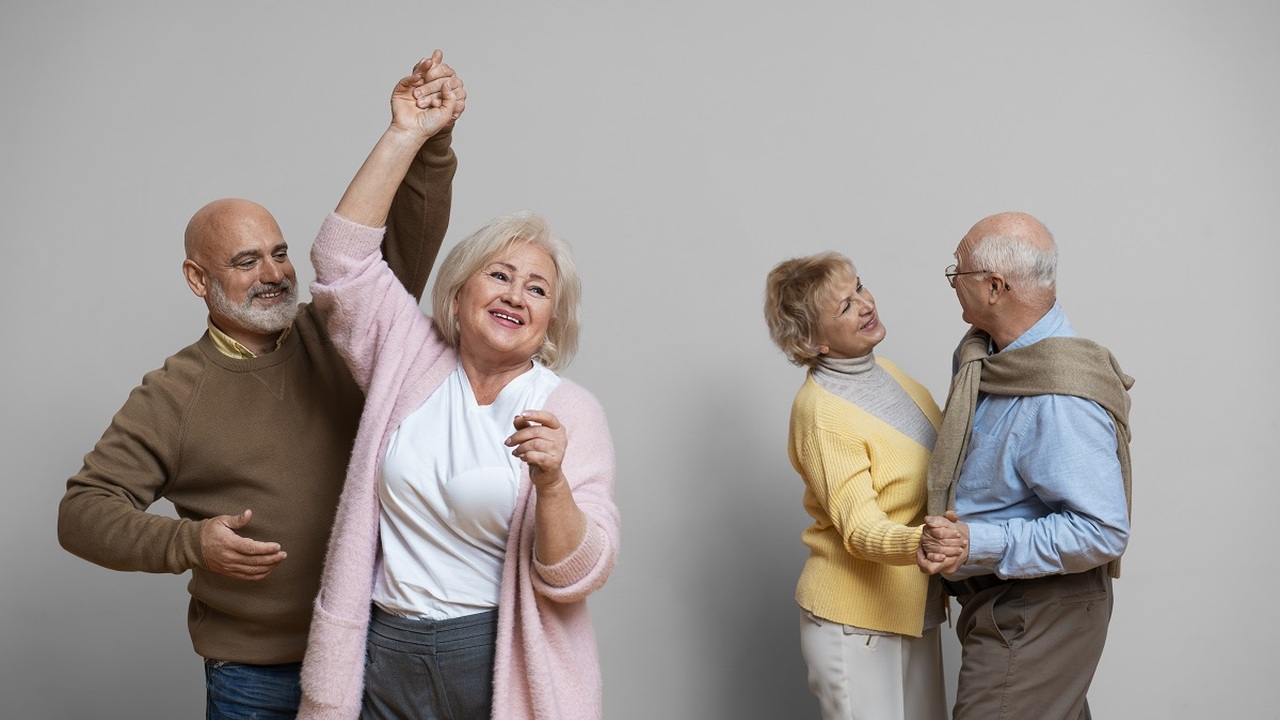
[[[513,242],[458,291],[458,347],[500,365],[527,363],[547,338],[556,309],[556,264],[545,250]]]

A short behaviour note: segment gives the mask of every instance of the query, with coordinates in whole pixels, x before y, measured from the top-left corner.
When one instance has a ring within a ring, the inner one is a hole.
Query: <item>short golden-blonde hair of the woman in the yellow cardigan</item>
[[[803,368],[818,364],[819,302],[854,263],[838,252],[819,252],[778,263],[764,281],[764,322],[787,360]]]

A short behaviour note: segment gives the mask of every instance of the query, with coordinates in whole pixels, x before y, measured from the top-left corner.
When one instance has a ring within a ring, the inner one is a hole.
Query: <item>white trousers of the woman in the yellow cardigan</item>
[[[800,609],[800,652],[823,720],[947,720],[938,628],[877,635]]]

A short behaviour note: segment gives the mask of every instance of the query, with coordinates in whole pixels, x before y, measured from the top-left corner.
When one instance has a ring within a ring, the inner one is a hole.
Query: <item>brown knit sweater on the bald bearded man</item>
[[[456,167],[449,133],[429,141],[388,219],[384,255],[417,297],[448,228]],[[301,661],[362,406],[310,305],[260,357],[227,357],[206,333],[146,374],[67,482],[59,541],[115,570],[191,570],[188,628],[204,657]],[[146,511],[161,497],[179,519]],[[205,570],[201,556],[202,521],[244,509],[253,518],[239,533],[288,552],[257,582]]]

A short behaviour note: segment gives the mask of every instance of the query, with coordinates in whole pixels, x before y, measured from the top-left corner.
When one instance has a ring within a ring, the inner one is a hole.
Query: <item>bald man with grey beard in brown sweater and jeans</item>
[[[411,78],[424,106],[449,82],[457,119],[462,81],[439,51]],[[449,223],[452,126],[422,146],[387,223],[383,252],[415,297]],[[105,568],[191,570],[207,716],[292,719],[364,396],[324,318],[298,304],[289,247],[265,208],[215,200],[184,241],[182,272],[209,309],[207,331],[129,395],[68,480],[58,537]],[[161,497],[177,519],[147,511]]]

